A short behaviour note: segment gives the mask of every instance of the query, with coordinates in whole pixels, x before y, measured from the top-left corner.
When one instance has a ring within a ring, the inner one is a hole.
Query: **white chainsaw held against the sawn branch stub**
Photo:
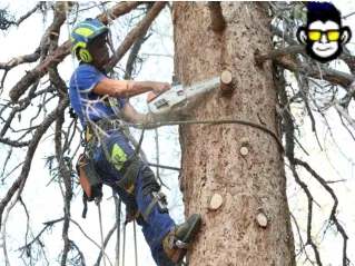
[[[211,91],[220,86],[220,77],[206,79],[187,87],[172,86],[161,95],[148,93],[147,104],[155,121],[161,121],[177,115],[191,100]]]

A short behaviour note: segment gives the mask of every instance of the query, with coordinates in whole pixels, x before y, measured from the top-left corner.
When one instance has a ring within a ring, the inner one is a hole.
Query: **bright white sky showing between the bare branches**
[[[16,10],[18,14],[24,13],[29,8],[33,7],[31,2],[16,2],[11,3],[11,9]],[[355,11],[354,4],[351,1],[342,1],[336,2],[336,7],[341,9],[343,14],[351,13]],[[93,17],[93,16],[92,16]],[[47,17],[48,21],[47,24],[51,21],[51,14]],[[159,55],[167,55],[167,56],[150,56],[148,57],[148,61],[146,62],[144,69],[141,70],[140,75],[137,77],[137,80],[159,80],[159,81],[171,81],[172,76],[172,57],[174,55],[174,43],[172,43],[172,28],[171,26],[165,23],[169,19],[169,14],[167,10],[162,14],[159,16],[156,27],[162,37],[157,35],[152,36],[151,39],[142,47],[141,53],[159,53]],[[36,14],[33,18],[30,18],[26,23],[21,24],[18,30],[9,31],[6,36],[2,33],[0,35],[0,43],[1,43],[1,51],[0,51],[0,61],[8,61],[12,57],[18,55],[26,55],[31,53],[39,45],[39,40],[42,37],[46,26],[42,23],[43,17],[41,14]],[[117,22],[117,26],[122,23],[122,21]],[[349,17],[344,21],[344,24],[348,24],[353,29],[353,40],[352,43],[348,45],[348,48],[353,49],[353,55],[355,55],[355,16]],[[62,28],[62,38],[60,42],[63,42],[68,39],[68,27]],[[69,27],[70,29],[70,27]],[[125,32],[118,35],[117,41],[120,42],[125,37]],[[164,46],[161,46],[164,42]],[[164,49],[161,49],[164,47]],[[6,51],[6,52],[4,52]],[[125,66],[125,58],[121,61],[121,66]],[[32,63],[29,66],[21,66],[16,71],[10,71],[7,77],[6,82],[6,90],[0,96],[2,99],[7,97],[9,88],[13,86],[13,83],[19,79],[19,77],[23,76],[26,70],[30,70],[32,67],[37,66],[37,63]],[[77,62],[72,60],[71,57],[68,57],[65,60],[65,63],[59,66],[59,71],[61,76],[69,80],[71,72],[76,68]],[[41,85],[45,86],[45,85]],[[139,97],[138,99],[131,100],[135,107],[141,111],[147,111],[147,106],[145,105],[145,96]],[[69,117],[67,116],[69,120]],[[337,119],[335,114],[329,116],[329,119],[333,122],[333,132],[336,138],[337,145],[341,147],[341,150],[345,150],[348,156],[353,156],[351,150],[354,150],[354,141],[351,140],[349,136],[341,128],[341,125],[337,124]],[[322,119],[321,119],[322,120]],[[319,121],[321,121],[319,120]],[[318,122],[318,130],[319,135],[322,130],[326,130],[326,127]],[[353,258],[352,260],[355,262],[355,254],[352,250],[355,250],[355,243],[352,239],[352,236],[355,236],[355,213],[354,213],[354,205],[355,198],[353,196],[354,188],[355,188],[355,180],[354,180],[354,169],[353,165],[348,161],[344,160],[344,157],[334,148],[334,142],[331,140],[329,134],[327,135],[326,139],[322,139],[322,144],[324,144],[325,151],[321,151],[319,147],[316,144],[315,136],[310,134],[310,125],[309,121],[305,120],[305,131],[302,132],[304,137],[300,139],[303,145],[307,148],[307,150],[312,150],[309,156],[303,155],[302,158],[306,159],[307,161],[316,165],[316,170],[326,176],[327,180],[337,180],[341,178],[346,179],[345,183],[339,183],[334,185],[334,189],[336,190],[339,197],[339,219],[346,226],[346,230],[349,236],[348,242],[348,254]],[[135,136],[138,136],[139,132],[135,131]],[[150,161],[154,162],[156,157],[155,149],[151,147],[151,141],[154,140],[155,134],[154,131],[146,132],[146,138],[142,145],[144,150],[146,151]],[[180,162],[180,154],[178,147],[178,132],[176,127],[166,127],[159,129],[159,140],[161,142],[161,155],[160,155],[160,162],[162,165],[170,165],[179,167]],[[58,184],[51,184],[48,186],[49,183],[49,171],[45,168],[45,155],[51,155],[51,150],[53,150],[53,144],[51,142],[50,138],[43,139],[39,147],[36,156],[33,158],[33,166],[30,173],[27,188],[23,191],[23,198],[26,198],[27,206],[31,210],[31,227],[33,235],[37,235],[38,231],[42,229],[42,223],[51,219],[56,219],[62,217],[62,200],[60,198],[60,188]],[[172,150],[172,156],[171,156]],[[21,160],[23,155],[20,152],[16,154],[16,160]],[[355,158],[352,158],[355,161]],[[0,160],[1,162],[1,160]],[[17,176],[14,175],[13,178]],[[178,178],[177,173],[175,171],[164,171],[164,181],[169,185],[169,187],[177,188],[178,187]],[[315,215],[316,217],[322,217],[326,219],[328,216],[329,208],[332,207],[332,200],[319,189],[318,185],[314,183],[310,178],[308,180],[307,174],[303,171],[303,177],[309,186],[312,186],[313,191],[317,195],[317,203],[322,204],[324,208],[316,209]],[[3,186],[0,186],[0,195],[7,189]],[[77,189],[76,191],[79,191]],[[184,207],[181,206],[181,194],[177,189],[164,191],[168,195],[169,207],[172,209],[170,210],[171,216],[176,219],[177,223],[181,223],[184,218]],[[290,209],[297,214],[299,217],[305,217],[305,206],[306,200],[303,198],[302,193],[299,193],[299,188],[294,185],[292,178],[288,178],[288,188],[287,188],[288,197],[289,197],[289,205]],[[101,204],[102,208],[102,216],[103,216],[103,231],[108,231],[114,225],[115,218],[115,209],[111,199],[111,191],[106,187],[103,190],[105,197]],[[40,195],[40,197],[39,197]],[[174,207],[172,207],[174,206]],[[89,206],[89,213],[87,219],[81,218],[82,211],[82,203],[81,203],[81,195],[78,195],[77,198],[73,200],[71,206],[71,215],[72,219],[80,224],[82,229],[98,244],[100,243],[100,235],[99,235],[99,224],[98,224],[98,215],[97,215],[97,207],[91,204]],[[322,220],[323,220],[322,219]],[[18,258],[18,253],[14,250],[23,245],[23,234],[26,228],[26,217],[23,215],[22,207],[17,205],[10,214],[9,221],[7,225],[7,233],[8,233],[8,243],[11,244],[8,246],[10,253],[10,262],[11,265],[20,265],[20,260]],[[318,225],[315,221],[314,225],[315,231],[319,230],[319,237],[322,236],[322,225]],[[59,248],[62,247],[61,240],[61,229],[62,225],[58,224],[46,234],[46,243],[48,249],[48,258],[50,259],[49,265],[57,265],[56,259],[58,256]],[[85,252],[87,264],[92,265],[96,260],[99,249],[92,245],[89,240],[87,240],[80,230],[75,225],[70,226],[70,233],[77,245]],[[127,226],[127,250],[126,250],[126,265],[134,265],[134,242],[132,242],[132,224]],[[342,247],[339,243],[339,237],[336,237],[335,234],[331,234],[327,236],[324,242],[326,243],[325,249],[321,250],[322,256],[324,257],[324,263],[327,266],[337,266],[339,264],[339,248]],[[58,244],[60,243],[60,244]],[[60,245],[60,247],[58,247]],[[56,248],[57,247],[57,248]],[[111,240],[111,244],[107,247],[108,253],[110,256],[114,256],[115,250],[115,240]],[[147,244],[142,239],[142,236],[138,229],[138,250],[139,250],[139,265],[140,266],[151,266],[155,265]],[[336,253],[334,252],[336,250]],[[0,253],[0,262],[2,260],[3,254]],[[111,260],[114,262],[114,259]],[[102,265],[102,264],[101,264]]]

